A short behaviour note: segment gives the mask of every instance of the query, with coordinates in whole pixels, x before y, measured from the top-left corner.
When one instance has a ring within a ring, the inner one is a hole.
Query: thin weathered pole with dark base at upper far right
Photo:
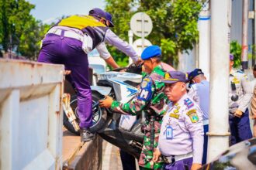
[[[242,68],[248,69],[248,6],[249,1],[243,0],[243,36],[242,36]]]

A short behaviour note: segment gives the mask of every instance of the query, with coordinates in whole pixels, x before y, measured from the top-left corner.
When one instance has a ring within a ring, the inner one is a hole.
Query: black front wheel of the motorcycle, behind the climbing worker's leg
[[[92,93],[92,126],[90,127],[90,131],[98,132],[105,128],[107,124],[107,110],[105,108],[99,107],[98,101],[101,100],[101,97],[98,93]],[[71,108],[74,111],[75,116],[77,117],[77,122],[79,124],[78,117],[78,98],[77,96],[71,97]],[[63,125],[73,134],[80,134],[80,131],[75,131],[73,125],[68,121],[67,115],[64,113],[63,116]]]

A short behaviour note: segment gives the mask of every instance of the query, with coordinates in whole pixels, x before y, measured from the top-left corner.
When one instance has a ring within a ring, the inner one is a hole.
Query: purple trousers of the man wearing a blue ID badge
[[[171,164],[164,165],[165,169],[170,170],[187,170],[192,167],[193,158],[185,158]]]

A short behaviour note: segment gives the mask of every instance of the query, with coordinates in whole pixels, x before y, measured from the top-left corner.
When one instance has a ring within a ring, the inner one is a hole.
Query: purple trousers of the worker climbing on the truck
[[[81,49],[78,39],[47,34],[43,39],[38,62],[64,64],[65,70],[71,70],[71,79],[78,91],[78,116],[80,128],[92,125],[92,91],[88,79],[88,56]]]

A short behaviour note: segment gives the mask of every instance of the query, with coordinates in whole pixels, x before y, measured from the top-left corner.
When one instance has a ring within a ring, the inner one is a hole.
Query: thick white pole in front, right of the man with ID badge
[[[211,57],[210,104],[207,162],[213,161],[229,147],[228,87],[229,42],[228,0],[210,1],[211,7]]]

